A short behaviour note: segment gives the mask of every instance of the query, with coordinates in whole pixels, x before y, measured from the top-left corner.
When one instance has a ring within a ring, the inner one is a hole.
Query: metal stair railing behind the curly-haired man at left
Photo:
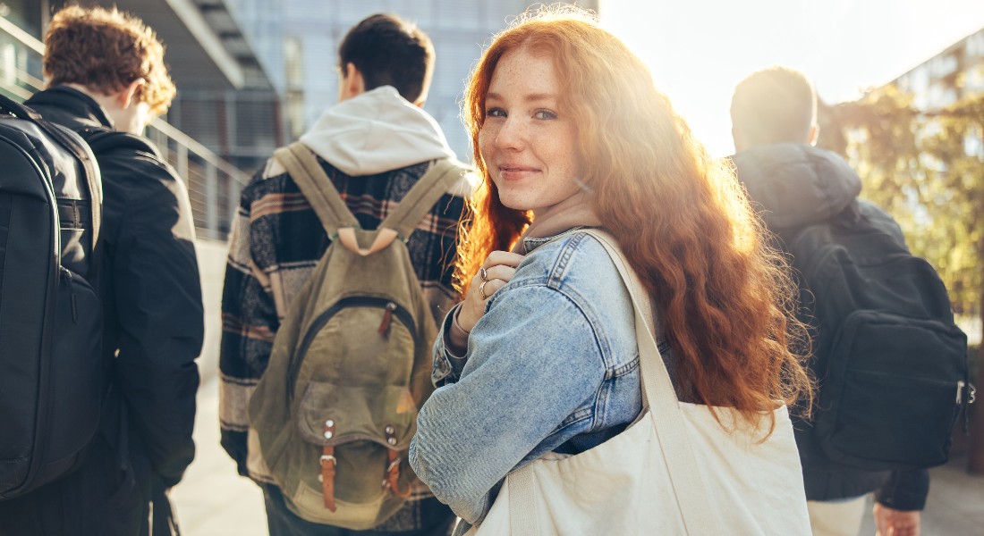
[[[26,100],[43,89],[43,54],[43,43],[0,17],[0,91]],[[145,134],[184,179],[198,236],[224,240],[249,175],[162,119]]]

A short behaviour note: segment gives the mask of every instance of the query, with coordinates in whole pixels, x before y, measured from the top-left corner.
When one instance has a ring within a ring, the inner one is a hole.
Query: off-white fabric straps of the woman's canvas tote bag
[[[639,345],[643,395],[649,409],[656,437],[666,460],[667,471],[673,486],[677,505],[683,517],[687,534],[691,536],[717,535],[725,531],[719,526],[718,518],[708,509],[707,487],[700,478],[700,468],[694,450],[690,447],[690,436],[684,422],[683,410],[677,399],[669,373],[659,356],[659,348],[653,336],[655,332],[652,308],[649,297],[636,273],[618,247],[615,238],[598,229],[585,229],[584,233],[593,236],[604,246],[622,280],[629,289],[633,308],[636,311],[636,340]],[[514,478],[518,477],[518,478]],[[535,483],[530,466],[510,474],[510,516],[512,534],[536,534]],[[532,529],[532,532],[530,532]]]

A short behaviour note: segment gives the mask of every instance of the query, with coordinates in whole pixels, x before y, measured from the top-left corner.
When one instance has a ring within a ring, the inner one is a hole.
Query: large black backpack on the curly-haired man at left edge
[[[106,392],[101,181],[71,130],[0,95],[0,500],[71,472]]]

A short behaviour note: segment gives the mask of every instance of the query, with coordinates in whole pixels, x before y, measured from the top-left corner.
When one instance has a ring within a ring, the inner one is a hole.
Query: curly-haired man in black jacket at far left
[[[195,455],[204,320],[187,191],[138,135],[175,89],[154,31],[115,9],[60,11],[45,45],[47,89],[27,104],[77,131],[119,133],[96,154],[109,388],[83,466],[0,502],[0,535],[166,534],[176,526],[166,492]]]

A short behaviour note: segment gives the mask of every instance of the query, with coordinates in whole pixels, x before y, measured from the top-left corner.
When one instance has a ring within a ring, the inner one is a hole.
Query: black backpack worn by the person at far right
[[[873,212],[854,205],[780,233],[812,331],[813,438],[831,461],[861,470],[941,465],[973,398],[967,338],[936,270]]]

